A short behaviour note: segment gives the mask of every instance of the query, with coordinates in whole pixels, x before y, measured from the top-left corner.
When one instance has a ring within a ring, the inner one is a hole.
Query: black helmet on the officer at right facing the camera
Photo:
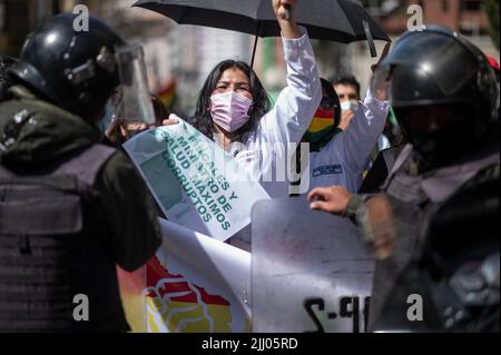
[[[373,90],[390,81],[405,138],[432,165],[483,144],[498,121],[498,86],[485,56],[442,27],[406,32],[374,73]]]

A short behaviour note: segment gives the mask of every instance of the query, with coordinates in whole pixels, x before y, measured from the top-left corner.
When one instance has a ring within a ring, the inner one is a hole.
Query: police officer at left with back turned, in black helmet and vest
[[[0,103],[0,331],[127,331],[116,265],[135,270],[160,245],[145,183],[97,128],[134,87],[124,65],[137,56],[104,21],[76,31],[75,18],[28,37]]]

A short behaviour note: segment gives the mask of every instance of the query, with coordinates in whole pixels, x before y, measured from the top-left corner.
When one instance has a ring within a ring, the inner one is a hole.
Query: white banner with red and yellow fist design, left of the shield
[[[150,333],[242,333],[250,322],[250,254],[160,219],[147,265]]]

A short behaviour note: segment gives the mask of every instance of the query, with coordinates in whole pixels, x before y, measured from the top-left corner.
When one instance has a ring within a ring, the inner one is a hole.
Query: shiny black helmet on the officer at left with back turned
[[[94,121],[119,85],[114,51],[126,42],[92,16],[88,31],[77,31],[76,18],[61,13],[39,26],[10,75],[48,101]]]

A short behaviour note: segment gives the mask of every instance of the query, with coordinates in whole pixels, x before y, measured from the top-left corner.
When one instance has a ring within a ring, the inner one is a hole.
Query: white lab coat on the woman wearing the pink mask
[[[229,147],[229,152],[262,183],[272,198],[288,196],[287,144],[301,141],[322,100],[313,48],[306,30],[301,30],[304,36],[298,39],[282,39],[287,87],[249,135],[246,145]]]

